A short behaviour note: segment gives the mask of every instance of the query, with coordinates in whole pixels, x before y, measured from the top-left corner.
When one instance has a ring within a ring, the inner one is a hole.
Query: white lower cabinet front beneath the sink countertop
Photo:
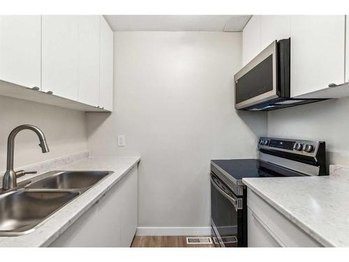
[[[132,168],[51,247],[130,247],[138,226],[138,169]]]

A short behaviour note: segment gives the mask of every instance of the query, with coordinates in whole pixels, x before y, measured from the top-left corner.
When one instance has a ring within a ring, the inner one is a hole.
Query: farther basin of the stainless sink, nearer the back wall
[[[109,171],[61,171],[33,182],[29,189],[83,189],[92,187]]]

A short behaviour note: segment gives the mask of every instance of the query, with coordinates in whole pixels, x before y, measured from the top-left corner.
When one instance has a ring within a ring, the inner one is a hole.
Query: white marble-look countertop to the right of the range
[[[349,168],[322,177],[244,178],[247,187],[325,247],[349,247]]]

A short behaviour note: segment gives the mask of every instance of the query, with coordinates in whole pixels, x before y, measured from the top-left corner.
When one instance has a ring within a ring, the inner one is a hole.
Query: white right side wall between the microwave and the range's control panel
[[[349,165],[349,98],[268,112],[268,136],[325,140],[327,163]]]

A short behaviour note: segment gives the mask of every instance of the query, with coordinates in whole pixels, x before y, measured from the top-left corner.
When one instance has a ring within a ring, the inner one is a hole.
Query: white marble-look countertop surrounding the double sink
[[[50,245],[139,161],[140,157],[86,157],[60,166],[58,170],[109,170],[114,173],[52,214],[44,224],[31,233],[20,236],[0,236],[0,247],[45,247]]]

